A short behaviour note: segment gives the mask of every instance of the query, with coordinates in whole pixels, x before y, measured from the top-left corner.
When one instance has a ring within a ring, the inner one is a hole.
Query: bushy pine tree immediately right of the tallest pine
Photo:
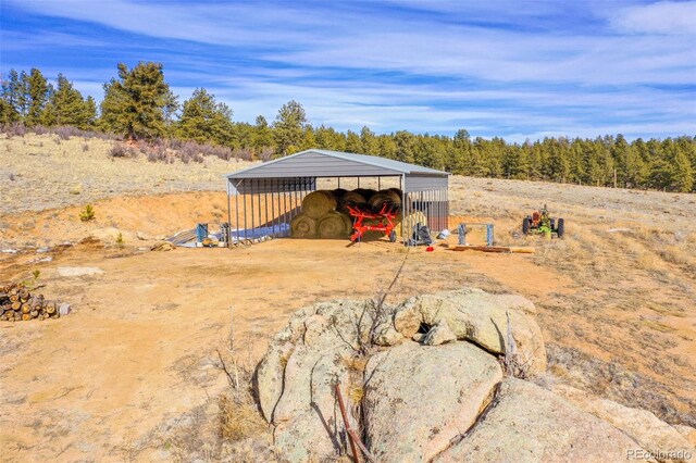
[[[199,88],[184,102],[178,122],[179,137],[198,142],[229,145],[232,141],[232,110],[225,103],[216,102],[215,96]]]

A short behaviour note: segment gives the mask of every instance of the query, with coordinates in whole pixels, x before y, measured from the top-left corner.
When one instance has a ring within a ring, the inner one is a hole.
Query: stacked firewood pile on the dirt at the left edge
[[[60,317],[59,306],[44,295],[33,295],[23,284],[0,286],[0,320],[20,322]]]

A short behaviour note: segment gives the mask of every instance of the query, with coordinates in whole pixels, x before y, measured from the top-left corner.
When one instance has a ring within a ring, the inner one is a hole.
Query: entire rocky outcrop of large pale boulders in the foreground
[[[534,305],[463,289],[398,305],[330,301],[299,311],[257,370],[258,397],[290,462],[348,454],[349,423],[380,462],[624,461],[682,450],[693,429],[562,386],[545,371]],[[520,368],[510,368],[510,359]],[[518,377],[515,377],[518,376]],[[542,376],[539,376],[540,378]]]

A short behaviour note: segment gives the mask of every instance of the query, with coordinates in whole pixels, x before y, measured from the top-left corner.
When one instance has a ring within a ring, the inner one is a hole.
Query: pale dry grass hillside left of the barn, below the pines
[[[224,187],[222,175],[251,165],[215,157],[202,162],[150,162],[110,155],[114,140],[58,135],[0,135],[0,214],[84,205],[121,195],[204,191]]]

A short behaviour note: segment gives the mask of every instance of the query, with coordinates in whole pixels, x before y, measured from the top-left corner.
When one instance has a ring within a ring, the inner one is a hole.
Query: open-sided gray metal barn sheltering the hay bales
[[[421,211],[432,230],[447,227],[447,172],[366,154],[310,149],[227,175],[229,241],[289,235],[302,199],[327,182],[341,188],[360,182],[402,191],[402,216]],[[232,203],[235,203],[234,212]],[[415,224],[403,223],[402,238]]]

